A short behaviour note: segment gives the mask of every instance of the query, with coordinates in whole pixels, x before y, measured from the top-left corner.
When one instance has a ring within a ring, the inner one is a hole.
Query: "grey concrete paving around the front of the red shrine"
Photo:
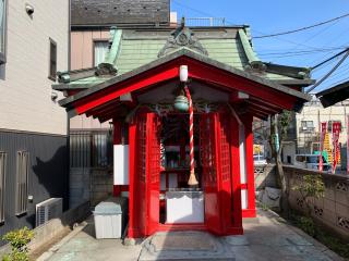
[[[226,251],[222,251],[221,257],[226,257],[224,260],[233,260],[233,257],[237,261],[341,260],[317,241],[304,235],[299,229],[289,226],[274,213],[266,211],[260,211],[257,219],[244,222],[245,233],[243,236],[229,236],[218,239],[210,235],[204,235],[195,239],[195,236],[193,237],[195,233],[189,233],[188,237],[176,233],[171,233],[169,234],[170,236],[167,237],[165,234],[159,233],[155,237],[145,240],[143,245],[136,246],[123,246],[121,240],[118,239],[97,240],[94,237],[92,221],[89,220],[87,223],[88,225],[81,232],[68,237],[68,239],[63,240],[63,244],[53,248],[51,252],[46,252],[45,254],[48,258],[41,260],[136,261],[141,256],[142,247],[141,259],[143,260],[152,260],[152,257],[153,260],[188,260],[188,253],[190,253],[191,257],[195,257],[195,250],[193,249],[196,247],[201,252],[206,251],[207,257],[214,254],[215,251],[218,253],[219,249],[228,248],[229,252],[233,254],[229,256]],[[210,239],[207,240],[207,238]],[[181,244],[173,243],[173,240],[185,243],[185,240],[188,241],[189,239],[191,244],[184,244],[185,247],[183,246],[183,249],[180,249]],[[217,248],[218,241],[218,245],[221,246]],[[149,243],[153,243],[151,250]],[[180,254],[181,252],[185,254]],[[210,260],[214,260],[212,256],[210,258]]]

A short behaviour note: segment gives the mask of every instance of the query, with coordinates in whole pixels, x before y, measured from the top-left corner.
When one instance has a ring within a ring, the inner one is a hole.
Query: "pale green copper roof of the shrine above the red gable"
[[[105,62],[98,65],[96,76],[82,76],[81,78],[75,76],[74,80],[69,82],[70,77],[61,73],[61,77],[64,78],[64,82],[61,83],[64,83],[65,89],[88,88],[149,64],[158,60],[165,51],[169,53],[181,48],[189,48],[217,62],[246,71],[262,78],[288,82],[297,79],[298,83],[301,83],[300,79],[308,79],[309,82],[309,74],[303,77],[299,73],[301,71],[306,72],[305,69],[281,66],[280,73],[278,73],[278,65],[263,63],[252,48],[248,27],[206,27],[192,30],[184,27],[182,32],[184,30],[190,40],[183,45],[183,42],[178,42],[181,40],[178,37],[181,28],[178,28],[174,33],[171,28],[143,30],[111,28],[110,49],[106,54]],[[268,72],[269,67],[273,67],[273,71]],[[287,73],[282,73],[286,71]],[[67,72],[67,74],[69,73]],[[56,89],[59,89],[58,86],[56,86]]]

